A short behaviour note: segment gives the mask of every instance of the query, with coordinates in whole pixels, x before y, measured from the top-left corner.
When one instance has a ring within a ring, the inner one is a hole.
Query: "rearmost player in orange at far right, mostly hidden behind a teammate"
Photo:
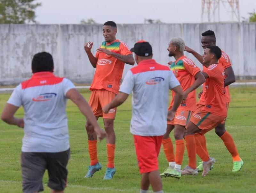
[[[202,43],[203,49],[205,49],[207,46],[215,46],[216,45],[216,37],[215,37],[214,32],[211,30],[208,30],[208,31],[202,33],[201,43]],[[192,53],[197,58],[197,60],[203,64],[203,61],[202,61],[203,58],[200,54],[198,54],[194,50],[190,49],[188,46],[185,47],[185,50],[189,53]],[[225,72],[225,91],[226,91],[226,97],[227,97],[227,104],[225,106],[228,108],[228,105],[230,103],[230,94],[229,94],[229,90],[228,90],[228,85],[235,82],[236,78],[235,78],[233,68],[231,66],[230,59],[224,51],[221,51],[221,57],[219,59],[219,63],[222,65],[222,67],[224,68],[224,72]],[[203,67],[203,68],[205,68],[205,67]],[[203,85],[203,90],[204,90],[204,85]],[[204,107],[204,94],[202,94],[202,92],[199,93],[199,98],[200,98],[200,100],[198,101],[197,106],[196,106],[197,109]],[[206,130],[204,130],[201,133],[197,133],[195,136],[196,141],[198,142],[196,152],[201,159],[203,159],[200,156],[200,153],[202,151],[201,148],[203,148],[204,151],[206,151],[208,154],[208,151],[206,148],[206,139],[204,137],[205,132],[206,132]],[[234,163],[232,171],[233,172],[239,171],[242,168],[244,162],[242,161],[242,159],[240,158],[240,156],[237,152],[236,145],[235,145],[235,142],[234,142],[232,136],[228,133],[228,131],[225,130],[225,120],[215,127],[215,133],[220,137],[220,139],[222,139],[223,143],[225,144],[226,148],[228,149],[229,153],[232,156],[233,163]],[[200,162],[199,166],[197,166],[197,170],[198,171],[203,170],[202,162]]]

